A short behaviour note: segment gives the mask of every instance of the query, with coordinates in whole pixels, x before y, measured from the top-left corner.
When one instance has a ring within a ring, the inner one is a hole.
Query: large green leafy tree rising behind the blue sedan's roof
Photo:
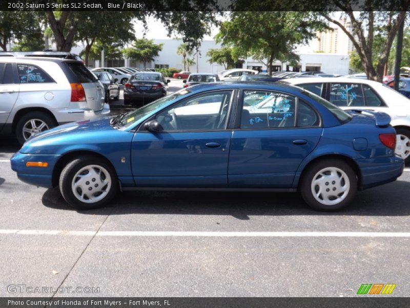
[[[217,42],[234,47],[236,56],[267,59],[269,72],[275,59],[294,55],[297,44],[308,43],[315,31],[324,28],[308,12],[235,11],[223,22]],[[292,59],[289,59],[292,60]]]

